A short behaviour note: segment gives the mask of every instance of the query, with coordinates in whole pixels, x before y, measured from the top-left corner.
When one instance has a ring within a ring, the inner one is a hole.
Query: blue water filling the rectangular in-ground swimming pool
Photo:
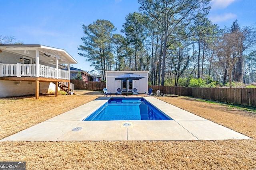
[[[173,120],[144,98],[111,98],[84,121]]]

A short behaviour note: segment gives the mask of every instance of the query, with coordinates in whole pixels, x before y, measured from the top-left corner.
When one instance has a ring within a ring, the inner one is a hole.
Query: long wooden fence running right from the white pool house
[[[194,98],[256,107],[256,88],[192,88],[173,86],[148,86],[148,88],[161,90],[163,94],[192,96]]]

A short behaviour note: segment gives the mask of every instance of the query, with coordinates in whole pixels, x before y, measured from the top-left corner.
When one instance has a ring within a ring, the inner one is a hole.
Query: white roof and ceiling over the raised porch
[[[39,51],[39,59],[44,63],[56,63],[59,59],[59,64],[77,64],[77,61],[71,57],[64,49],[57,49],[44,45],[29,45],[29,44],[0,44],[2,51],[14,53],[20,56],[31,57],[36,59],[36,49]],[[46,54],[46,56],[44,56]]]

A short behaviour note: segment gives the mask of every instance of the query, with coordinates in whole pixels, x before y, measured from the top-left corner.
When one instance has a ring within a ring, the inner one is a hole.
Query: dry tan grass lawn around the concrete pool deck
[[[0,139],[73,109],[101,92],[0,99]],[[0,161],[26,161],[38,169],[256,169],[256,114],[227,105],[178,97],[170,104],[224,125],[253,140],[0,142]]]

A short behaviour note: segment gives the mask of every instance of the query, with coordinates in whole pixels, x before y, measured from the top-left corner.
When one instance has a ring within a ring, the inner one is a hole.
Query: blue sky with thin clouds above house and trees
[[[208,18],[220,28],[230,27],[234,20],[242,27],[256,22],[256,0],[212,0],[211,5]],[[0,35],[65,49],[78,61],[74,67],[89,71],[77,50],[84,36],[82,25],[108,20],[120,33],[125,17],[138,7],[137,0],[2,0]]]

